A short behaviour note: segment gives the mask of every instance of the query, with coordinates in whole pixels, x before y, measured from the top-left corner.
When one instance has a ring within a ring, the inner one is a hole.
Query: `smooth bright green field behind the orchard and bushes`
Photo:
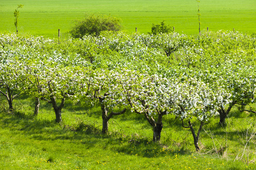
[[[13,13],[19,4],[24,5],[19,10],[19,32],[46,37],[57,37],[58,29],[61,36],[67,36],[72,21],[82,19],[86,12],[117,16],[129,32],[135,32],[135,27],[141,33],[150,32],[152,23],[162,20],[173,25],[175,31],[189,35],[197,34],[199,28],[195,0],[1,0],[0,32],[15,32]],[[256,31],[255,0],[201,1],[199,6],[202,31],[207,27],[211,31]]]

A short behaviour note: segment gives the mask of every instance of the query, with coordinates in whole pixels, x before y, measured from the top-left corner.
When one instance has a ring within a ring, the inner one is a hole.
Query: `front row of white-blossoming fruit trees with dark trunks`
[[[51,103],[56,122],[61,122],[66,99],[90,101],[93,105],[100,104],[102,133],[107,133],[109,119],[129,109],[142,114],[152,126],[153,141],[160,141],[163,116],[174,114],[184,128],[191,129],[197,150],[200,131],[209,118],[219,113],[223,123],[235,104],[245,108],[245,105],[254,103],[256,91],[256,79],[251,75],[250,79],[233,79],[232,83],[230,77],[219,77],[220,80],[210,84],[196,77],[164,78],[126,69],[92,70],[88,67],[63,67],[57,63],[36,65],[20,61],[3,66],[1,75],[1,89],[6,92],[0,92],[6,96],[10,110],[13,110],[13,99],[27,93],[36,101],[41,99]],[[35,114],[38,108],[39,102],[36,102]],[[193,130],[195,120],[200,121],[197,134]]]

